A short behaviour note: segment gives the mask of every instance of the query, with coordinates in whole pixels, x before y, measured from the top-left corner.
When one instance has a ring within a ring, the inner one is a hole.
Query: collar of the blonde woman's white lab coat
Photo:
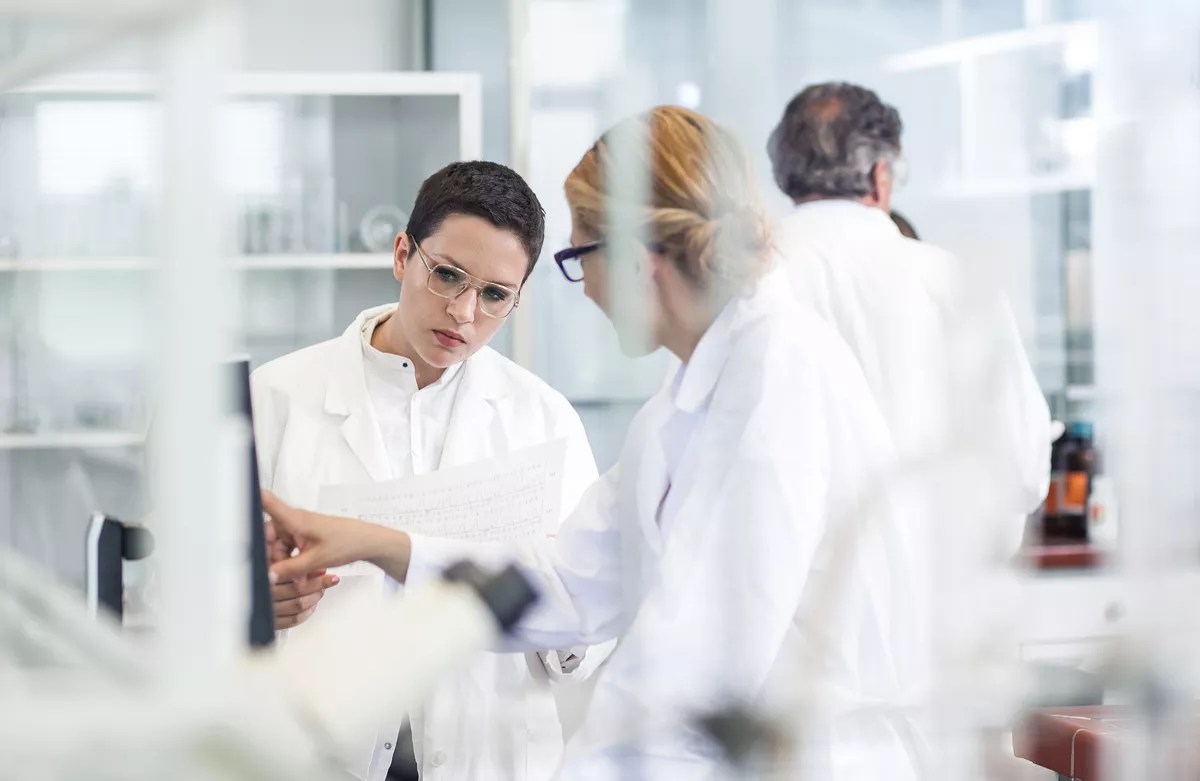
[[[738,334],[763,314],[778,311],[791,301],[791,288],[781,269],[768,271],[748,296],[725,305],[696,344],[691,360],[679,367],[671,385],[677,409],[695,413],[708,401],[728,361]]]

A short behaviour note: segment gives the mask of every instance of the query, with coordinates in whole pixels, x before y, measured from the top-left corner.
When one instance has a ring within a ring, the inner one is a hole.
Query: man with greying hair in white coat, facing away
[[[797,298],[858,358],[901,462],[953,459],[965,444],[985,453],[1003,513],[988,528],[1003,536],[977,543],[994,554],[1015,547],[1046,495],[1050,415],[994,270],[905,238],[890,220],[900,133],[896,109],[854,84],[792,98],[768,142],[775,181],[796,203],[776,244]],[[943,500],[931,512],[953,512]]]

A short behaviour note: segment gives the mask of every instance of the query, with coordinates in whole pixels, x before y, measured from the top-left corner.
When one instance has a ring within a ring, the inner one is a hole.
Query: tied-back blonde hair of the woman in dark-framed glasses
[[[648,203],[637,216],[650,246],[697,284],[716,281],[746,292],[770,264],[770,223],[737,137],[676,106],[619,122],[583,155],[564,185],[572,218],[593,236],[605,234],[606,164],[617,133],[634,140],[626,154],[648,172]]]

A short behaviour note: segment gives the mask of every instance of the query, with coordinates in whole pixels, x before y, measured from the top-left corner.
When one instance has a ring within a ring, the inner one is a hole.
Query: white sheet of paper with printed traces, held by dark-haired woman
[[[566,440],[361,486],[325,486],[322,512],[392,529],[457,540],[499,542],[558,528]]]

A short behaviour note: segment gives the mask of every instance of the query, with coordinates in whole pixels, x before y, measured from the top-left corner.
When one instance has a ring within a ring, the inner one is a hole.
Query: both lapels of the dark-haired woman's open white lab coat
[[[367,320],[395,310],[395,304],[377,306],[361,312],[350,323],[337,338],[325,388],[325,411],[346,417],[342,437],[372,480],[379,481],[391,479],[391,464],[367,398],[360,334]],[[511,384],[498,376],[498,362],[499,356],[486,347],[463,361],[460,368],[463,376],[442,455],[443,464],[480,457],[479,443],[486,439],[482,433],[494,415],[494,402],[511,390]]]

